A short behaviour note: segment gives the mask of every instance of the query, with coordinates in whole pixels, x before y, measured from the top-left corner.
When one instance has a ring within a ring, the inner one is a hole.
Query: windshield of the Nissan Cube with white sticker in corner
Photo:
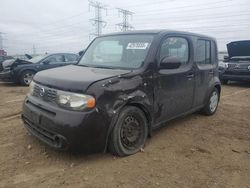
[[[146,58],[153,35],[100,37],[90,45],[78,63],[81,66],[136,69]]]

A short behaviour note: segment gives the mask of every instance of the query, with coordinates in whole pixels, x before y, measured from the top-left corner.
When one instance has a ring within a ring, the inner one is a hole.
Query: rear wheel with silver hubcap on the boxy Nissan
[[[219,99],[220,93],[217,88],[214,88],[209,95],[207,104],[202,109],[202,113],[208,116],[213,115],[218,108]]]

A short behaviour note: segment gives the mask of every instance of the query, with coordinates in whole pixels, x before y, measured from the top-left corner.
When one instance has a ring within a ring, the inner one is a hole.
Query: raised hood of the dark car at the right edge
[[[227,51],[229,57],[250,56],[250,40],[230,42]]]

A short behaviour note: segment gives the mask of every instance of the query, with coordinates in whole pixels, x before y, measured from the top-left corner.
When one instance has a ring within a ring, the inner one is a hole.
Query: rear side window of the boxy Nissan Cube
[[[199,65],[212,64],[210,41],[198,40],[196,52],[196,61]]]

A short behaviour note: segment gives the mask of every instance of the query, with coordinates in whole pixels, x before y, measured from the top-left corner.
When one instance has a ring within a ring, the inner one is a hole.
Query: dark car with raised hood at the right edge
[[[227,44],[228,56],[219,64],[221,82],[250,81],[250,40]]]

